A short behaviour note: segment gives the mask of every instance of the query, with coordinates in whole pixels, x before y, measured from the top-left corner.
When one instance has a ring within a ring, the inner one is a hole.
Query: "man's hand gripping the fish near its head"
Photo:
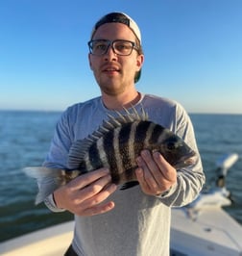
[[[177,182],[177,171],[160,153],[143,150],[136,159],[135,174],[141,190],[150,195],[168,191]]]

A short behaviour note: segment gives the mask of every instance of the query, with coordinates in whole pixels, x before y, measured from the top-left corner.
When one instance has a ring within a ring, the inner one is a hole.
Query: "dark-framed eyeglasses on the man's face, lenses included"
[[[135,42],[130,40],[106,40],[96,39],[88,41],[89,52],[93,55],[105,55],[108,52],[109,46],[112,51],[120,56],[128,56],[132,54],[133,49],[138,50]]]

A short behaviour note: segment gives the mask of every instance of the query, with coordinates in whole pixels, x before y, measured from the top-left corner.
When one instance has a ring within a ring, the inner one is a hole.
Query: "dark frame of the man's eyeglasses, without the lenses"
[[[100,41],[100,42],[108,42],[108,45],[107,45],[107,48],[106,50],[102,53],[102,54],[94,54],[92,52],[92,43],[95,42],[95,41]],[[115,48],[113,46],[113,43],[117,42],[117,41],[120,41],[120,42],[130,42],[132,44],[132,48],[131,48],[131,52],[129,54],[120,54],[120,53],[117,53],[115,51]],[[108,39],[94,39],[94,40],[89,40],[87,42],[88,44],[88,47],[89,47],[89,53],[92,54],[92,55],[95,55],[95,56],[103,56],[105,54],[107,54],[107,52],[109,51],[109,47],[111,46],[111,49],[112,51],[116,54],[116,55],[119,55],[119,56],[130,56],[133,52],[133,49],[138,51],[138,47],[136,45],[136,43],[134,41],[131,41],[131,40],[124,40],[124,39],[115,39],[115,40],[108,40]]]

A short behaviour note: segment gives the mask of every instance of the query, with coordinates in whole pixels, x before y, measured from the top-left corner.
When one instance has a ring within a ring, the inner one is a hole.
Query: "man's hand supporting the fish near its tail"
[[[109,169],[100,168],[85,173],[54,192],[57,207],[78,216],[93,216],[109,212],[114,202],[103,202],[116,190],[111,184]]]

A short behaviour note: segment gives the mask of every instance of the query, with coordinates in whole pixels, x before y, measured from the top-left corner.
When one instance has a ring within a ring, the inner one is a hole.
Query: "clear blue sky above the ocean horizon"
[[[1,0],[0,109],[62,111],[100,95],[86,42],[115,11],[142,33],[138,90],[189,113],[242,114],[240,0]]]

